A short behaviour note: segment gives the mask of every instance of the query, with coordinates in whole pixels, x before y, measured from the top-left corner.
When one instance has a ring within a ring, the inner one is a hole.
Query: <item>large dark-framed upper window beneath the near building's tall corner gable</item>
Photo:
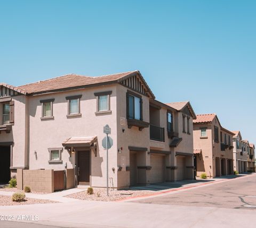
[[[143,120],[142,119],[142,98],[133,92],[127,92],[127,119]]]

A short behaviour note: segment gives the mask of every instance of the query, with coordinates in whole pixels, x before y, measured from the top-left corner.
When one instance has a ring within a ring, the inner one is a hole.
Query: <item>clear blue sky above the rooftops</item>
[[[0,81],[139,70],[161,102],[256,143],[256,2],[2,1]]]

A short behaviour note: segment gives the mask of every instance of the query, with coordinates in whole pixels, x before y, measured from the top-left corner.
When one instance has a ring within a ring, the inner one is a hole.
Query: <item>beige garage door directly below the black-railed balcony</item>
[[[165,181],[165,156],[150,155],[150,183]]]

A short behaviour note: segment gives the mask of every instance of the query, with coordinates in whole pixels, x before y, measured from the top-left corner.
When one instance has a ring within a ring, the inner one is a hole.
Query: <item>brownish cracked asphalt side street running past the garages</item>
[[[256,175],[212,184],[162,197],[134,202],[198,207],[250,209],[256,211]]]

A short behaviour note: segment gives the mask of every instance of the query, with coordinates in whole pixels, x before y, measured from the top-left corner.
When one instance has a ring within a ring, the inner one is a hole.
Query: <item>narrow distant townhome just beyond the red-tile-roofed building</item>
[[[247,149],[249,145],[242,139],[240,131],[232,132],[235,134],[233,136],[234,171],[244,173],[247,172]]]

